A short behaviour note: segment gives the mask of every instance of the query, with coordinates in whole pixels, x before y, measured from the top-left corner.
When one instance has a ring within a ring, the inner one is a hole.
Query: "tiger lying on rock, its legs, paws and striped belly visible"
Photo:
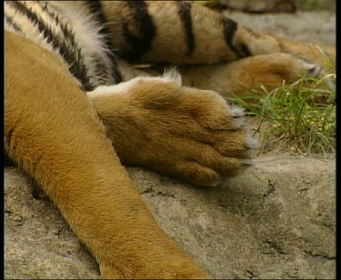
[[[226,97],[317,77],[327,57],[334,47],[194,2],[5,1],[5,155],[102,278],[210,278],[157,225],[125,165],[200,186],[240,175],[257,142]],[[135,64],[176,68],[151,75]]]

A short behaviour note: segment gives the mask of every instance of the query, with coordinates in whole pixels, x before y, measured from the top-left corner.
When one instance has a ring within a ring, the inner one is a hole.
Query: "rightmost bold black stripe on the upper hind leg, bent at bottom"
[[[233,44],[233,38],[236,33],[236,29],[238,27],[238,24],[233,21],[232,19],[229,19],[227,17],[223,18],[224,21],[224,35],[225,35],[225,40],[226,44],[235,52],[235,54],[238,57],[246,57],[251,55],[249,49],[245,44],[240,44],[240,45],[234,45]]]

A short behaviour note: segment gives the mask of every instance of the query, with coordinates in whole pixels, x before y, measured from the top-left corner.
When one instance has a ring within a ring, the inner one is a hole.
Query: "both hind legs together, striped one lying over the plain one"
[[[256,32],[195,3],[102,6],[119,55],[134,62],[211,65],[182,68],[184,84],[223,95],[245,94],[256,84],[271,90],[301,75],[324,75],[335,65],[334,47]]]

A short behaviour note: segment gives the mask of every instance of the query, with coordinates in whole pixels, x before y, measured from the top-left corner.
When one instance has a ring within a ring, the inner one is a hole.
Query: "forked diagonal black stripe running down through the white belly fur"
[[[9,1],[7,3],[14,6],[15,9],[17,9],[17,11],[23,15],[26,15],[34,25],[38,25],[40,33],[44,35],[47,43],[51,43],[53,47],[58,50],[59,54],[69,66],[70,73],[81,82],[83,90],[91,91],[95,88],[95,86],[89,81],[87,69],[83,63],[81,49],[75,43],[75,35],[71,30],[68,29],[67,25],[62,25],[59,23],[59,26],[63,31],[65,41],[67,41],[70,46],[67,46],[65,42],[60,39],[59,35],[55,35],[52,30],[45,25],[45,23],[40,20],[34,12],[32,12],[31,9],[27,8],[27,6],[17,1]],[[55,18],[55,20],[57,19]]]

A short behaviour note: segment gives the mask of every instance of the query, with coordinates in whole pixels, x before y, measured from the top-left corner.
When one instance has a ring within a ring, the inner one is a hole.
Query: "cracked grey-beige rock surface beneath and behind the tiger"
[[[229,16],[286,37],[335,44],[335,15],[327,12]],[[159,225],[213,277],[336,278],[334,155],[259,155],[217,187],[197,188],[142,168],[128,172]],[[6,167],[5,278],[98,276],[95,259],[54,205]]]

